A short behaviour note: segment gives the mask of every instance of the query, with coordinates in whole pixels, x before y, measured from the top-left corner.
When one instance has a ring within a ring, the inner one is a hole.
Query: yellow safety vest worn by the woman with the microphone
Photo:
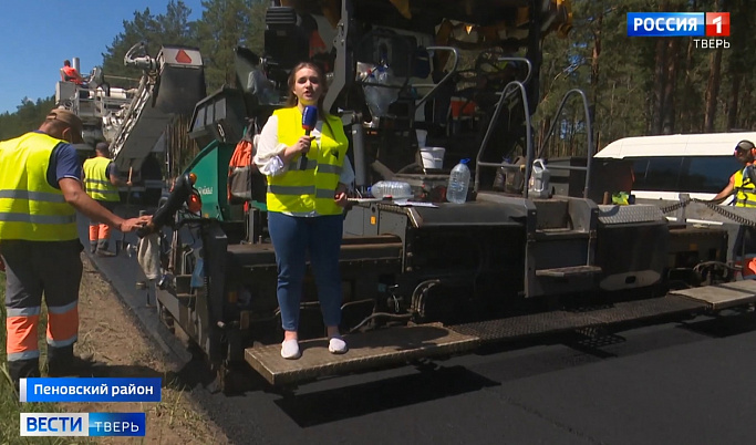
[[[298,107],[280,108],[273,114],[278,116],[279,143],[291,146],[304,135],[302,113]],[[333,195],[346,158],[349,141],[339,117],[327,116],[327,122],[328,124],[323,124],[322,127],[320,146],[312,144],[307,154],[307,169],[298,169],[300,157],[296,156],[287,172],[278,176],[268,176],[269,211],[293,216],[343,213],[343,208],[333,200]]]

